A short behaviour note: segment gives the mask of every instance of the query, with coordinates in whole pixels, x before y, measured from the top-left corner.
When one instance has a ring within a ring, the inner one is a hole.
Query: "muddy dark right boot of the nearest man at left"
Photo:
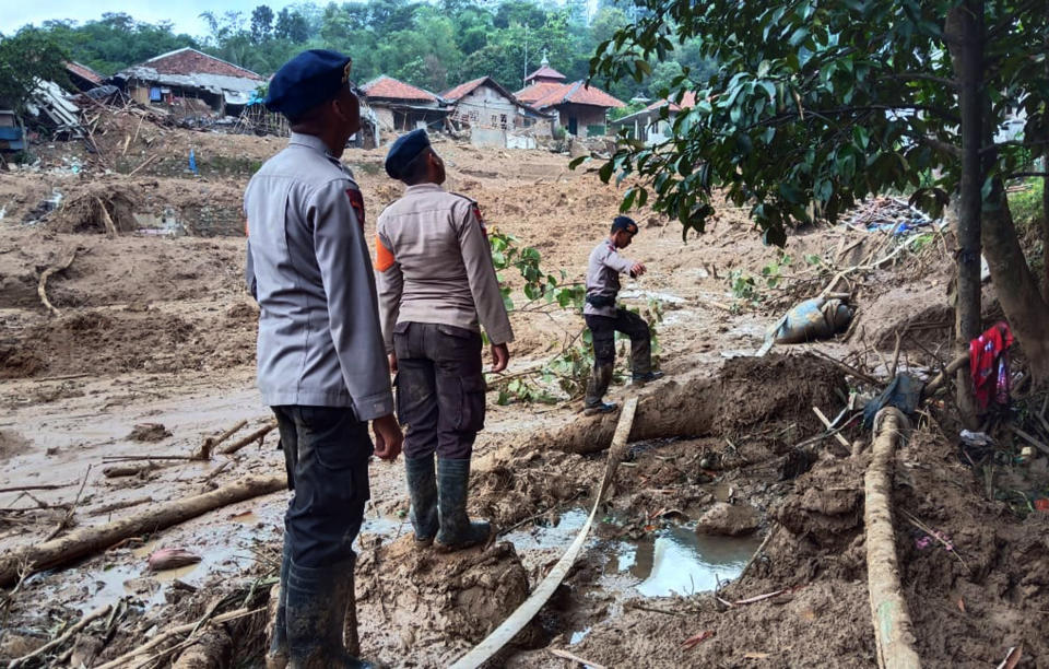
[[[346,653],[342,641],[353,592],[353,563],[321,568],[291,564],[285,605],[291,669],[373,667]]]

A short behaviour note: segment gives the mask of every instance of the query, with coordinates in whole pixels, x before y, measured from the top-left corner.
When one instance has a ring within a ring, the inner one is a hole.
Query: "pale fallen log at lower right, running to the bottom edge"
[[[899,584],[896,533],[893,530],[893,463],[906,418],[898,409],[882,409],[874,419],[873,459],[864,477],[867,580],[882,669],[917,669],[915,629]]]

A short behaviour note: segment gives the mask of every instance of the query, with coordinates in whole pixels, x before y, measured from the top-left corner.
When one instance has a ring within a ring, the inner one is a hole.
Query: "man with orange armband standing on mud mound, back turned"
[[[464,549],[492,532],[467,515],[470,456],[484,427],[481,326],[493,372],[506,368],[514,332],[478,203],[440,187],[445,164],[426,132],[399,138],[386,172],[408,186],[379,215],[375,269],[412,526],[420,545]]]

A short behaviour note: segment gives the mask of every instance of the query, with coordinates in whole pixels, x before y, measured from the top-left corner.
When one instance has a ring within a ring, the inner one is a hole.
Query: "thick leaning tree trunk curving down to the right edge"
[[[994,293],[1030,363],[1035,383],[1045,384],[1049,382],[1049,304],[1019,246],[1000,179],[991,188],[983,222],[983,246]]]

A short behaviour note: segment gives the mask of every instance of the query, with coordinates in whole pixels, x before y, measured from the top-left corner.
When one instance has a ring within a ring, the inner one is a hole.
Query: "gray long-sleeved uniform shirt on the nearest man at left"
[[[320,139],[292,133],[251,177],[244,209],[262,400],[351,407],[362,421],[392,413],[364,200],[350,172]]]

